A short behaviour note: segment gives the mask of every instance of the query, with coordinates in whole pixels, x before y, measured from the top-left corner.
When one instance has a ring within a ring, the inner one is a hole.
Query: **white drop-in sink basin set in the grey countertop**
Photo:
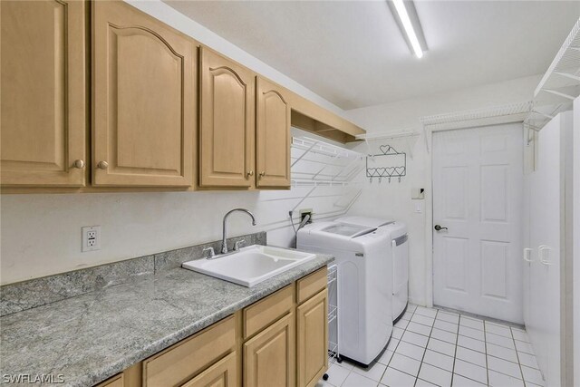
[[[238,285],[252,287],[268,278],[303,264],[316,255],[282,247],[248,246],[212,259],[195,259],[184,268]]]

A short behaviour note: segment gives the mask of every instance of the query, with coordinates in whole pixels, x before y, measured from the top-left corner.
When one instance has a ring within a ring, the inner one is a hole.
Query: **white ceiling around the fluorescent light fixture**
[[[545,73],[580,16],[578,1],[416,1],[417,59],[385,1],[165,2],[344,110]]]

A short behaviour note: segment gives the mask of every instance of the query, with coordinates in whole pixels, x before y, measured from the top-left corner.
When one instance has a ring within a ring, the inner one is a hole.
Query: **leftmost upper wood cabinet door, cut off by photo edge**
[[[82,1],[0,2],[0,183],[85,183]]]

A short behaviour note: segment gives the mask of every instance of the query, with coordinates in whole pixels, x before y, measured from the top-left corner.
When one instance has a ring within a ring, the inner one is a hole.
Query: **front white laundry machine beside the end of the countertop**
[[[390,231],[336,222],[301,228],[297,248],[334,256],[338,266],[338,343],[341,356],[369,365],[392,333]]]

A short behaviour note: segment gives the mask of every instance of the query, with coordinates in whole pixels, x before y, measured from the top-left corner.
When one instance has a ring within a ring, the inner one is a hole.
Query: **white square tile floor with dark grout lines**
[[[317,387],[544,385],[526,331],[409,305],[374,365],[333,363]]]

